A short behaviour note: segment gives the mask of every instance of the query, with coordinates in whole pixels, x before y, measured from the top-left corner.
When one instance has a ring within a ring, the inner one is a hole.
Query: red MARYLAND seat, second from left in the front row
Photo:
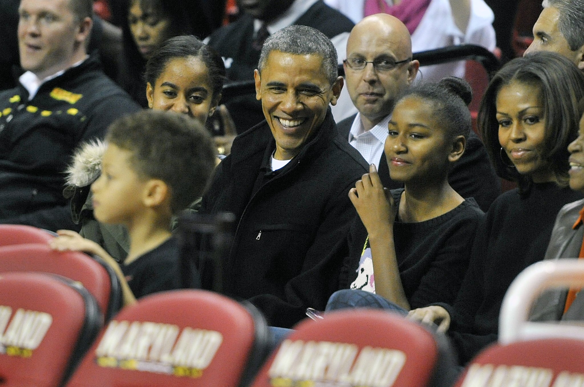
[[[114,317],[68,387],[248,385],[269,337],[256,313],[208,291],[145,296]]]

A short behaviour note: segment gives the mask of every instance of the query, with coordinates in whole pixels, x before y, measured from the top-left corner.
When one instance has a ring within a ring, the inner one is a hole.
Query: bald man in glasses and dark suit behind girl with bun
[[[347,91],[359,113],[337,126],[367,163],[376,164],[381,181],[390,189],[402,185],[391,180],[383,152],[387,123],[399,94],[415,80],[419,65],[412,60],[408,29],[394,16],[371,15],[353,27],[343,66]],[[499,178],[474,132],[467,138],[463,157],[450,171],[449,182],[464,198],[474,197],[485,211],[499,195]]]

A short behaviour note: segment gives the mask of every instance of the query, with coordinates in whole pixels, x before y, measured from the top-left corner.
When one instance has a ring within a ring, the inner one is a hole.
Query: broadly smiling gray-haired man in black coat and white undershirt
[[[343,87],[336,64],[331,41],[311,27],[270,36],[254,73],[266,120],[234,140],[203,196],[203,212],[232,212],[238,224],[222,262],[225,293],[249,299],[273,326],[324,309],[336,290],[340,262],[325,257],[356,215],[347,195],[367,172],[329,108]]]

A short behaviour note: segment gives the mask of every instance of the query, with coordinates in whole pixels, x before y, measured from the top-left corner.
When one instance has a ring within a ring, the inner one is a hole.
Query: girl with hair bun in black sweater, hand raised
[[[448,182],[471,130],[471,98],[467,82],[449,77],[398,99],[385,155],[391,179],[405,188],[385,190],[371,165],[349,192],[359,217],[340,247],[347,257],[340,286],[350,289],[335,292],[327,310],[377,306],[405,314],[456,298],[484,216],[474,199],[464,199]]]

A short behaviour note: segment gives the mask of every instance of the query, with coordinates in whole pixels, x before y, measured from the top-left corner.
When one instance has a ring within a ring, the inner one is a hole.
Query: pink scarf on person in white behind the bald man
[[[365,0],[363,15],[389,13],[401,20],[412,34],[418,28],[430,1],[432,0],[402,0],[398,5],[387,5],[385,0]]]

